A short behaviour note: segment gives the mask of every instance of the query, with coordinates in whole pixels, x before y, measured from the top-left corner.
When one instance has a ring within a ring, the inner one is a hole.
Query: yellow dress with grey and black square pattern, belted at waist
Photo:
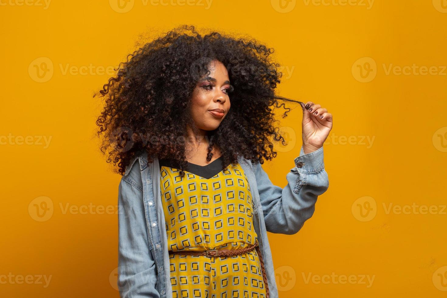
[[[180,171],[160,159],[160,192],[168,250],[205,251],[254,245],[253,203],[240,164],[222,158]],[[236,256],[169,254],[173,298],[265,298],[256,249]]]

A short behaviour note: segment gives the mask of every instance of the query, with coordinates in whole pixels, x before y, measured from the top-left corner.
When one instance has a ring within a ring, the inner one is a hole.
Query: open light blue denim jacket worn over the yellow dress
[[[160,195],[158,159],[143,152],[126,168],[118,186],[118,288],[122,298],[172,298],[168,238]],[[138,162],[136,162],[138,160]],[[257,162],[239,157],[253,198],[253,227],[267,273],[270,298],[278,298],[267,232],[292,235],[312,216],[317,197],[329,187],[323,147],[304,154],[287,172],[284,188],[272,184]]]

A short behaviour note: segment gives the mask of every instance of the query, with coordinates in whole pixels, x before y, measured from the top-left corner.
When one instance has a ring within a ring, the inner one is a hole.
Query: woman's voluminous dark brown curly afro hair
[[[231,109],[209,132],[207,161],[213,147],[222,153],[223,170],[236,164],[238,156],[253,164],[276,157],[271,141],[286,143],[274,126],[273,109],[286,109],[285,118],[290,108],[278,100],[299,103],[303,109],[304,103],[275,95],[282,73],[272,61],[273,52],[255,39],[214,31],[201,35],[188,25],[145,43],[119,63],[116,76],[99,91],[105,101],[96,120],[97,134],[103,135],[100,149],[108,152],[107,162],[118,163],[117,172],[124,175],[131,160],[145,150],[148,164],[153,155],[170,159],[183,177],[188,168],[186,126],[194,127],[191,101],[184,99],[190,99],[198,79],[210,73],[208,66],[214,59],[227,67]]]

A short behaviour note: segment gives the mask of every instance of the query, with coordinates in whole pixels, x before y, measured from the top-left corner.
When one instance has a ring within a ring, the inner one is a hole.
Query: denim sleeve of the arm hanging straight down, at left
[[[132,179],[140,173],[138,166],[133,168],[135,171],[123,176],[118,187],[118,289],[121,298],[159,298],[143,193],[138,180]]]

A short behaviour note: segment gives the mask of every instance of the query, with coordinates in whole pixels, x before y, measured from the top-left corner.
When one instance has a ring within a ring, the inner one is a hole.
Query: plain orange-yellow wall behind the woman
[[[139,34],[190,24],[274,47],[279,93],[333,114],[328,191],[299,233],[269,233],[280,297],[446,297],[445,0],[116,1],[0,1],[0,296],[118,297],[121,176],[98,150],[92,95]],[[413,64],[434,68],[388,72]],[[301,119],[282,120],[289,145],[264,164],[276,185]]]

